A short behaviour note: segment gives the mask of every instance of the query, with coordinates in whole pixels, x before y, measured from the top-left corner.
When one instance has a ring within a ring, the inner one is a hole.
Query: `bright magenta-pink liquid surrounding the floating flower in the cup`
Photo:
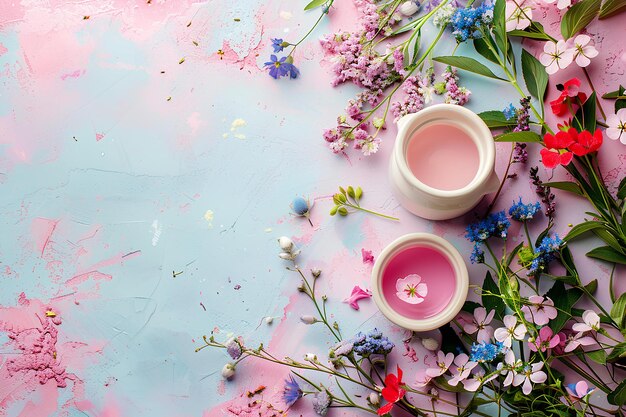
[[[420,304],[409,304],[396,295],[396,282],[417,274],[428,287]],[[412,246],[394,255],[384,267],[383,297],[392,310],[412,319],[422,320],[440,313],[450,303],[456,289],[456,275],[450,261],[428,246]]]

